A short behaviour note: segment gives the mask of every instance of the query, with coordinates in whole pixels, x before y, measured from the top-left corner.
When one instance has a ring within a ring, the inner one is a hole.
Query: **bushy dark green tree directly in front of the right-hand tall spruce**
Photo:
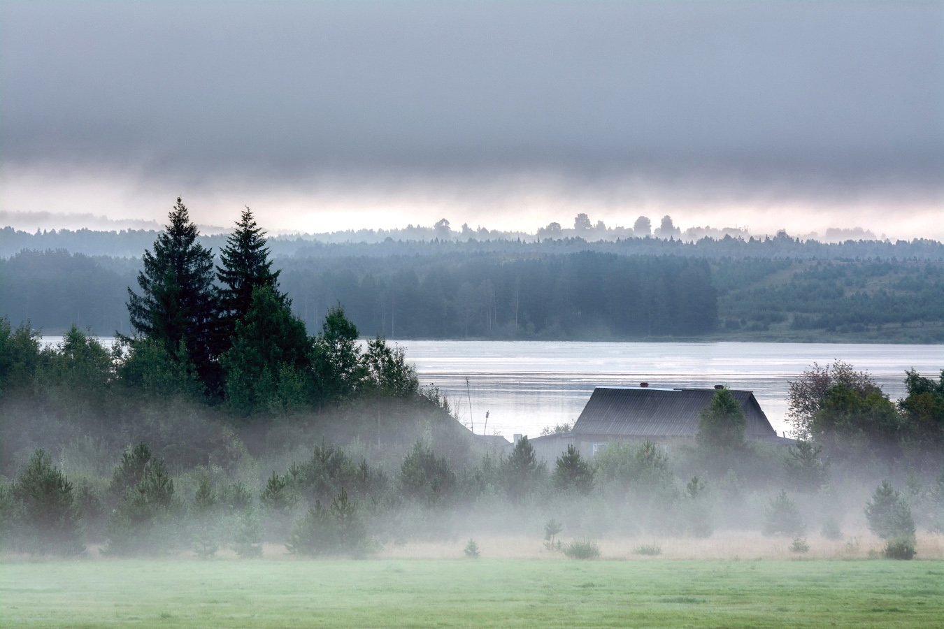
[[[220,358],[229,408],[240,415],[302,406],[309,366],[305,324],[271,286],[252,290],[252,302],[235,322],[232,346]]]

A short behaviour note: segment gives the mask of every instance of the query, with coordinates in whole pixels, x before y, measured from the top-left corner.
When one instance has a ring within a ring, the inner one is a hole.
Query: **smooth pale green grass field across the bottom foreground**
[[[0,626],[941,626],[936,561],[0,565]]]

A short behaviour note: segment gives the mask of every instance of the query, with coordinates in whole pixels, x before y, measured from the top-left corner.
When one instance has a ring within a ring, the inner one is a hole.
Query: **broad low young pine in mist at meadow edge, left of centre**
[[[331,501],[328,509],[315,502],[302,520],[295,524],[288,551],[297,555],[357,555],[367,550],[367,530],[357,505],[347,498],[347,491]]]

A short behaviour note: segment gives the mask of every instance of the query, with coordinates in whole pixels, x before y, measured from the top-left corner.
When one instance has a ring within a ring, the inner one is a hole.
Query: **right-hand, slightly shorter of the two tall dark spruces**
[[[221,266],[216,267],[216,277],[220,282],[220,333],[224,339],[221,352],[228,349],[236,323],[252,307],[255,290],[266,287],[278,302],[289,305],[285,295],[278,292],[278,273],[281,272],[272,270],[265,243],[265,232],[256,224],[252,210],[246,207],[236,229],[228,236],[226,246],[220,249]]]

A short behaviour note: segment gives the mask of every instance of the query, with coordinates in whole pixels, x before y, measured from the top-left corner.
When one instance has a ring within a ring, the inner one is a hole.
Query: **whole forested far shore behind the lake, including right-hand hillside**
[[[434,245],[435,246],[435,245]],[[276,257],[313,332],[341,303],[364,336],[944,342],[944,261],[498,254]],[[140,260],[0,259],[0,316],[128,332]]]

